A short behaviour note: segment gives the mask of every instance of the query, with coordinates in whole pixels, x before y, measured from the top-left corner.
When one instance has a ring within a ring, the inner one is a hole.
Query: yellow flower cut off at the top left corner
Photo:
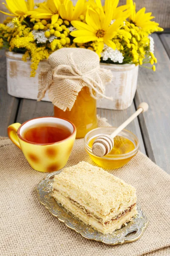
[[[6,3],[3,3],[11,14],[7,12],[2,12],[3,14],[9,16],[24,16],[28,15],[29,11],[34,9],[34,0],[6,0]]]

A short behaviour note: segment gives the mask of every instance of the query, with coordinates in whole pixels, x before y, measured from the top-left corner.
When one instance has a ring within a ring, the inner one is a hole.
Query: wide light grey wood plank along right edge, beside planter
[[[156,72],[140,68],[135,104],[148,102],[149,111],[139,116],[145,148],[151,160],[170,173],[170,59],[158,35],[153,35]]]

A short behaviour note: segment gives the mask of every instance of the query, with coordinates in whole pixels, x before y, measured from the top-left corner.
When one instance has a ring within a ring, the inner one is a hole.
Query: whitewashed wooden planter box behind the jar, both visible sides
[[[47,67],[46,61],[41,61],[35,77],[30,77],[31,61],[24,62],[23,55],[14,52],[6,52],[7,61],[7,87],[12,96],[26,99],[37,99],[38,75],[42,68]],[[113,73],[113,81],[106,86],[106,95],[113,97],[113,101],[101,99],[97,102],[98,108],[122,110],[128,108],[136,92],[138,66],[134,64],[100,64],[102,68],[108,68]],[[49,101],[48,93],[43,98]]]

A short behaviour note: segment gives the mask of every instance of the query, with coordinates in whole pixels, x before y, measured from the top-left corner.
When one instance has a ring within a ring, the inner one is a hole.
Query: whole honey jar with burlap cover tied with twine
[[[67,119],[77,128],[77,138],[97,128],[96,99],[105,96],[111,70],[100,67],[96,52],[83,48],[62,48],[48,58],[48,69],[39,76],[38,101],[48,90],[54,116]]]

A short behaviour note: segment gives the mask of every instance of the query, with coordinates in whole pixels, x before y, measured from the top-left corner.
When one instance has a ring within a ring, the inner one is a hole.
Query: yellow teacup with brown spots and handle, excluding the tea
[[[23,138],[24,132],[34,125],[57,123],[71,131],[71,135],[57,143],[38,144]],[[38,117],[8,127],[8,137],[23,151],[31,167],[39,172],[54,172],[62,169],[68,161],[76,138],[76,127],[66,119],[57,117]]]

